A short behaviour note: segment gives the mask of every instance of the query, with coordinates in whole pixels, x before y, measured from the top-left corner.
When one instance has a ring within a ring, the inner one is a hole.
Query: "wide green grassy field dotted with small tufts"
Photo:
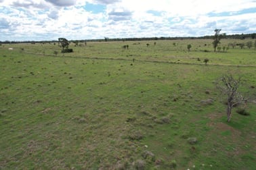
[[[0,169],[255,169],[256,51],[211,42],[1,45]],[[249,116],[226,121],[223,74]]]

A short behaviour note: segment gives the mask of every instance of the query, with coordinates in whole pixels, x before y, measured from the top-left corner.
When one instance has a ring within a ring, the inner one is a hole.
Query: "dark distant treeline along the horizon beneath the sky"
[[[108,41],[136,41],[136,40],[188,40],[188,39],[213,39],[214,35],[211,36],[175,36],[175,37],[142,37],[142,38],[99,38],[99,39],[83,39],[83,40],[68,40],[69,42],[108,42]],[[226,33],[221,34],[221,38],[229,38],[229,39],[246,39],[256,38],[256,33],[252,34],[230,34],[227,35]],[[18,43],[51,43],[51,42],[58,42],[58,40],[19,40],[19,41],[0,41],[0,44],[18,44]]]

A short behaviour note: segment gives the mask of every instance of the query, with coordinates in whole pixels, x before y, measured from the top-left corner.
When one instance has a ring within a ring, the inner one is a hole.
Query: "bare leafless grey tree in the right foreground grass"
[[[231,74],[225,75],[217,82],[217,88],[221,91],[221,94],[225,94],[227,97],[227,119],[228,122],[231,119],[232,108],[244,103],[244,98],[238,92],[238,87],[241,84],[241,79],[234,78]]]

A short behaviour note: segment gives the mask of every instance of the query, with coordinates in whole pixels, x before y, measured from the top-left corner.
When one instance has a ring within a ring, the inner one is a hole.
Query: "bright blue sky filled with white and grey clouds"
[[[256,0],[0,0],[0,40],[256,32]]]

